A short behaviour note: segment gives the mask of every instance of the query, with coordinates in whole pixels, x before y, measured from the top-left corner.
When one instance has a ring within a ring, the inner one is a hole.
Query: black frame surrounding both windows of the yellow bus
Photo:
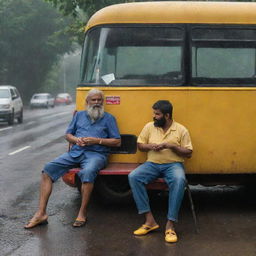
[[[181,60],[181,72],[182,72],[182,83],[180,84],[138,84],[138,85],[130,85],[129,82],[126,84],[102,84],[102,83],[88,83],[81,81],[82,77],[82,69],[84,68],[84,62],[82,60],[85,58],[84,56],[84,49],[85,45],[82,48],[82,55],[81,55],[81,66],[80,66],[80,83],[78,87],[256,87],[256,77],[255,78],[204,78],[204,79],[195,79],[192,77],[192,47],[193,47],[193,39],[192,39],[192,30],[199,28],[199,29],[239,29],[239,30],[248,30],[253,29],[256,30],[256,24],[191,24],[191,23],[174,23],[174,24],[104,24],[92,27],[89,29],[86,34],[85,38],[88,33],[93,31],[94,29],[103,28],[113,28],[113,27],[178,27],[182,28],[184,31],[184,40],[182,42],[182,60]],[[212,45],[216,44],[216,40],[212,40]],[[234,41],[233,41],[234,42]],[[237,40],[239,42],[239,40]],[[240,41],[245,43],[245,41]],[[253,41],[254,42],[254,41]],[[202,43],[202,42],[201,42]],[[222,44],[228,44],[222,42]],[[246,42],[246,44],[255,44],[256,49],[256,40],[255,43]],[[256,60],[255,60],[256,62]],[[255,63],[256,65],[256,63]]]

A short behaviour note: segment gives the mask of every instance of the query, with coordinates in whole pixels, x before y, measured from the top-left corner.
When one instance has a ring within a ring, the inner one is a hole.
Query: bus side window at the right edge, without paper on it
[[[204,84],[255,84],[256,30],[192,29],[192,79]]]

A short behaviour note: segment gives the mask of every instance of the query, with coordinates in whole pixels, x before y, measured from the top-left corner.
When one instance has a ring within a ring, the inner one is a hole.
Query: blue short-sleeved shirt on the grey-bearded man
[[[102,118],[96,120],[95,122],[92,122],[87,111],[76,112],[66,130],[66,134],[68,133],[76,137],[120,139],[116,119],[107,112],[104,113]],[[109,147],[98,144],[84,147],[74,145],[69,153],[72,157],[79,157],[84,151],[93,151],[107,155],[110,149]]]

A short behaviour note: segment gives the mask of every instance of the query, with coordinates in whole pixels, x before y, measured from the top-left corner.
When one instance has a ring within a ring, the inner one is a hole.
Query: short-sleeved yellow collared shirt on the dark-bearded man
[[[193,150],[188,130],[175,121],[172,122],[172,125],[166,133],[164,133],[162,128],[155,127],[153,122],[147,123],[138,137],[138,143],[143,144],[160,144],[166,142]],[[164,164],[184,162],[184,158],[178,156],[170,149],[163,149],[160,151],[150,150],[148,151],[147,161]]]

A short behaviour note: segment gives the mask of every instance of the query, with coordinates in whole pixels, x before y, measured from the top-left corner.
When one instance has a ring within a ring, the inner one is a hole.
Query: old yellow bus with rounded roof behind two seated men
[[[255,181],[255,14],[256,3],[165,1],[112,5],[90,18],[76,108],[98,87],[117,118],[123,148],[102,172],[116,195],[125,195],[127,173],[146,159],[133,135],[160,99],[190,131],[190,182]]]

